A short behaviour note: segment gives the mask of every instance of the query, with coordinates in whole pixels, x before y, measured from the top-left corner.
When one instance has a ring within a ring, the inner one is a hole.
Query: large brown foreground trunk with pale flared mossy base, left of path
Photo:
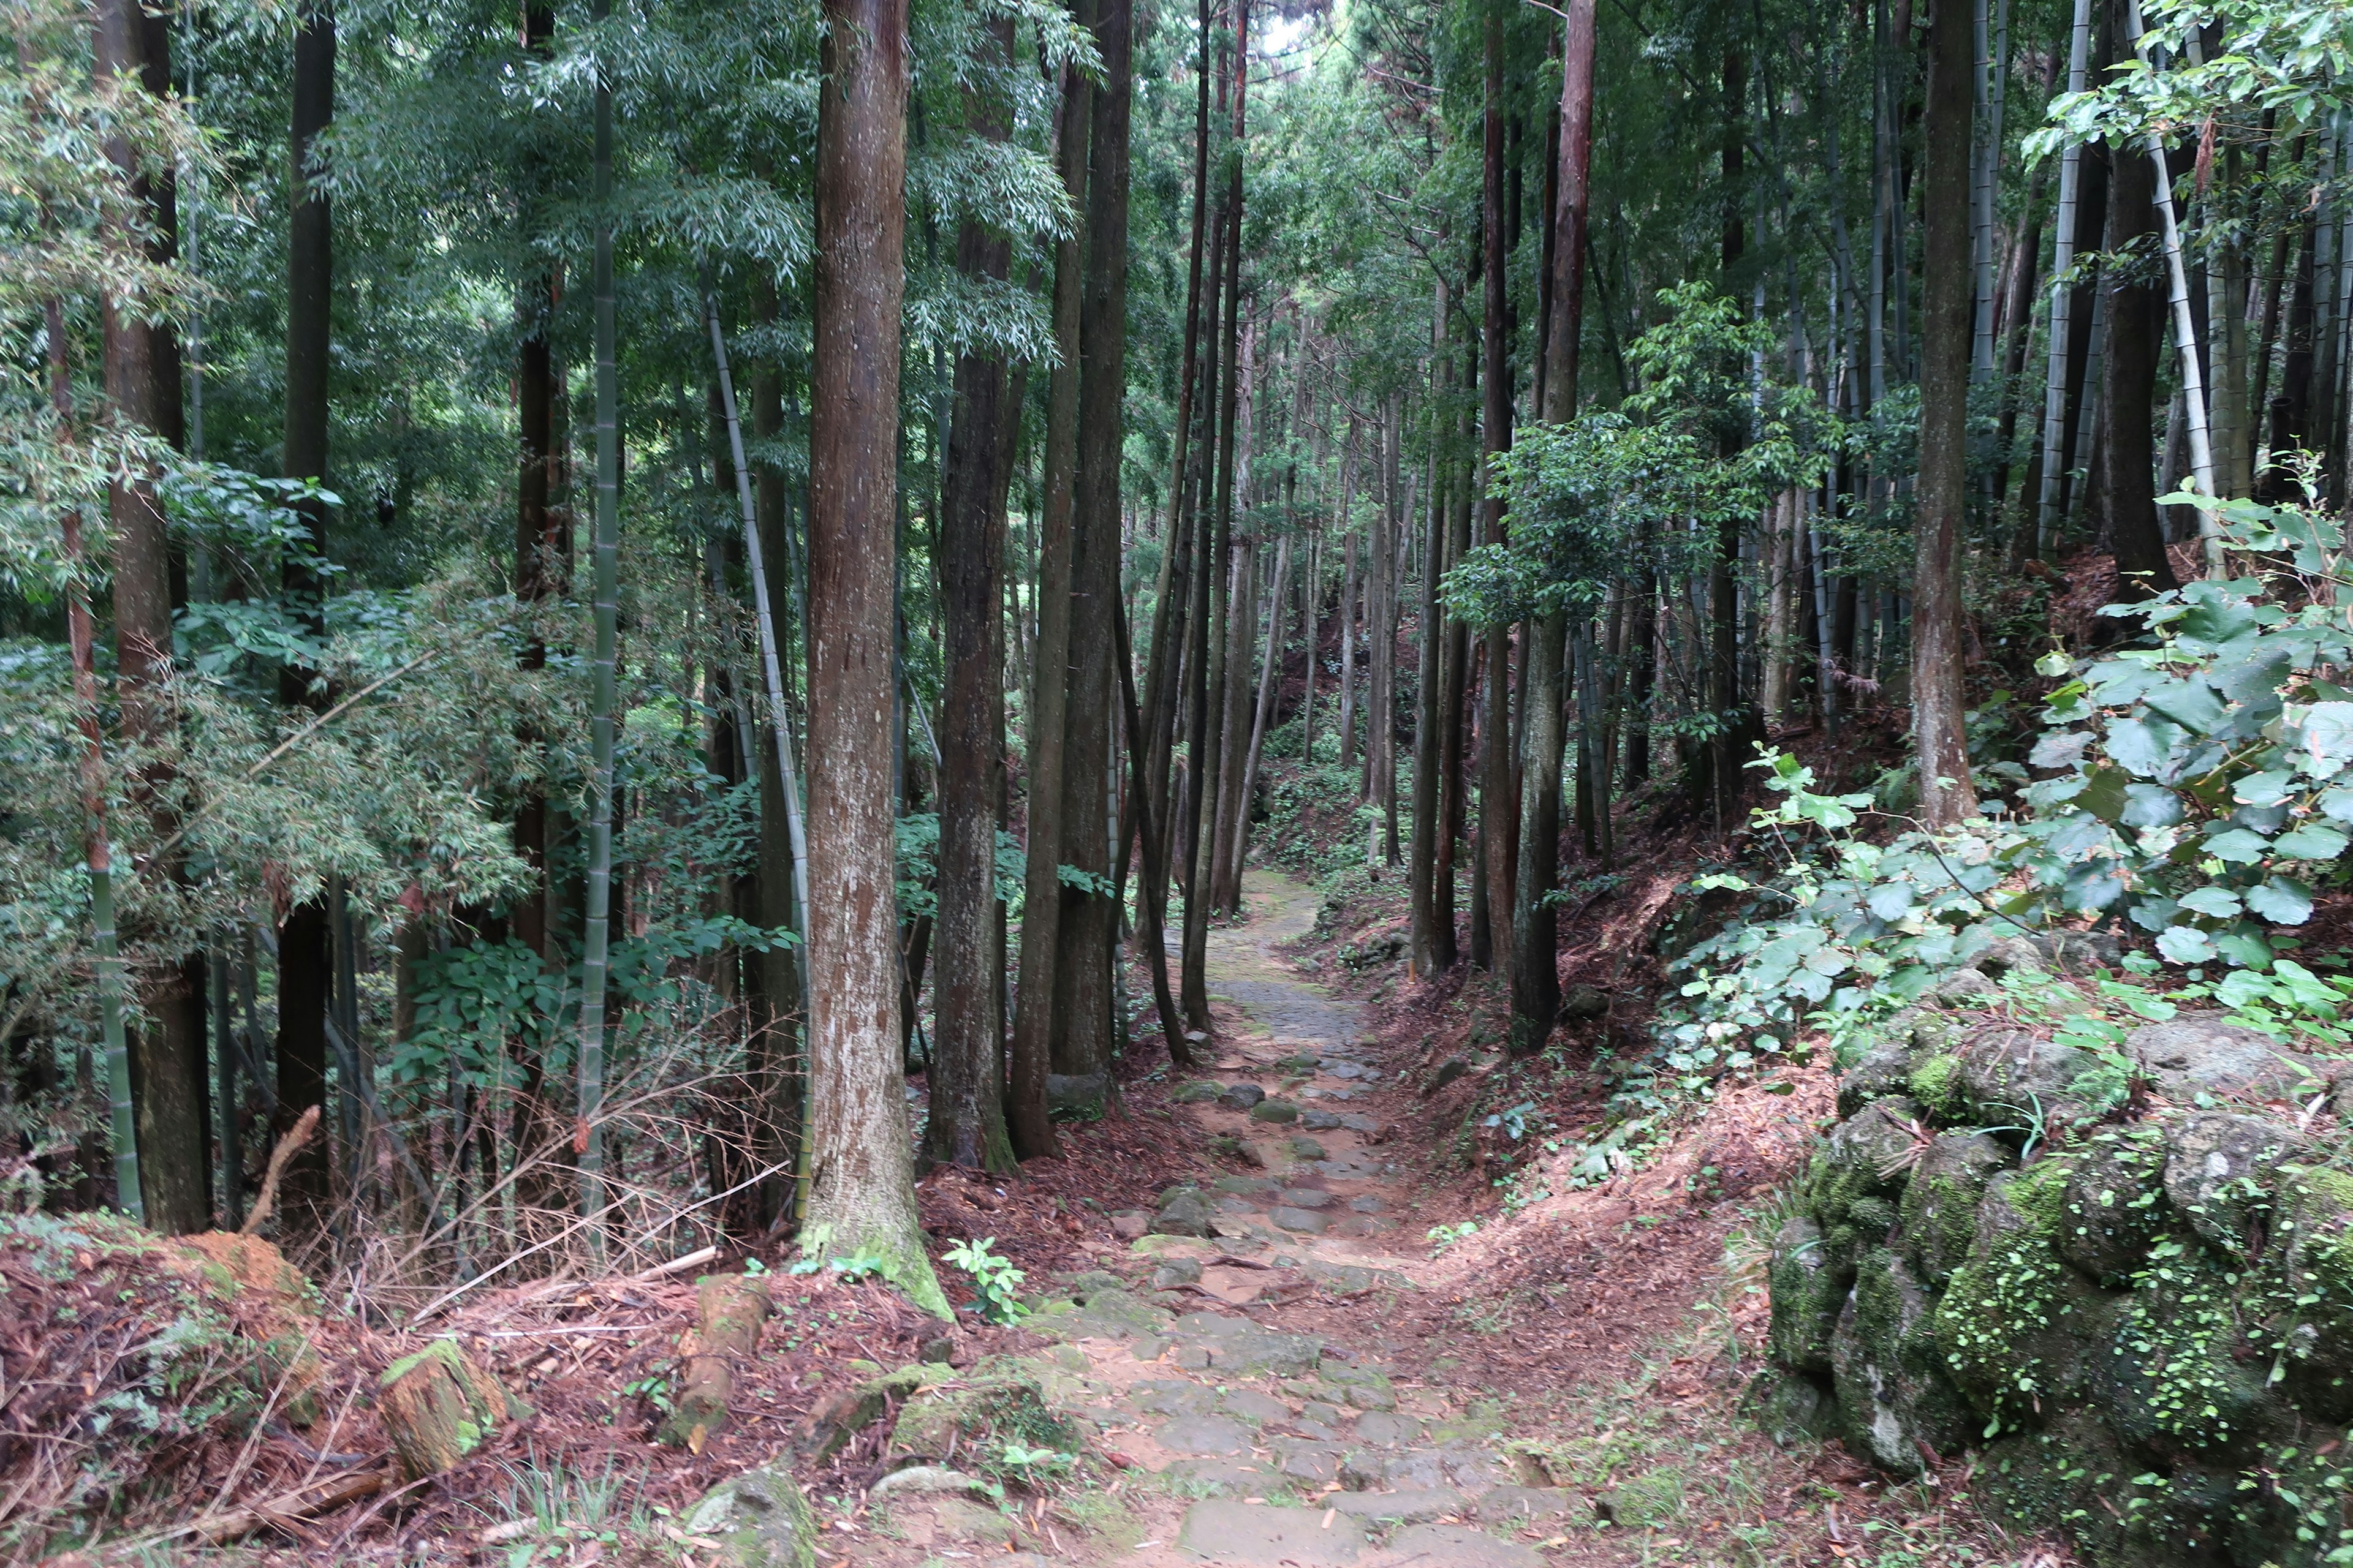
[[[882,1260],[948,1314],[915,1225],[899,1077],[892,649],[906,0],[826,0],[809,367],[809,1213],[802,1244]]]

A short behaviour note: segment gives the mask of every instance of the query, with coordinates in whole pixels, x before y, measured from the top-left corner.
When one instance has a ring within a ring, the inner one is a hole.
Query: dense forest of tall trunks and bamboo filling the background
[[[1278,790],[1534,1051],[1631,813],[1814,731],[1960,820],[2087,550],[2348,484],[2306,0],[12,28],[16,1180],[235,1225],[318,1105],[372,1293],[941,1305],[915,1173],[1205,1060]]]

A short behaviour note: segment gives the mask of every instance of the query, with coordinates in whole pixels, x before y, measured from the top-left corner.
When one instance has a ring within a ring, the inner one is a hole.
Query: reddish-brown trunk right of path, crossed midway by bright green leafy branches
[[[1948,0],[1951,2],[1951,0]],[[1586,306],[1586,230],[1593,183],[1593,0],[1569,0],[1560,56],[1560,176],[1553,230],[1553,320],[1544,343],[1544,407],[1551,425],[1577,416],[1577,346]],[[1579,609],[1577,614],[1591,614]],[[1525,780],[1520,795],[1520,877],[1513,903],[1511,1044],[1539,1051],[1560,1011],[1558,914],[1551,905],[1560,879],[1560,677],[1569,616],[1553,609],[1529,623]],[[1598,748],[1591,748],[1598,752]],[[1591,773],[1579,771],[1579,785]]]

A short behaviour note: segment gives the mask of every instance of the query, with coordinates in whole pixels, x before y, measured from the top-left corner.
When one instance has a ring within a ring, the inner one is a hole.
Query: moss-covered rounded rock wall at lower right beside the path
[[[1981,1497],[2097,1561],[2353,1561],[2341,1065],[2212,1013],[2054,1041],[1979,980],[1842,1077],[1767,1418],[1897,1474],[1979,1446]]]

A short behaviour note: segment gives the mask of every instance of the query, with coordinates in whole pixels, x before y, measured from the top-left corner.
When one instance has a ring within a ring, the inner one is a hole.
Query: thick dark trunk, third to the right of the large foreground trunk
[[[1106,799],[1115,795],[1113,611],[1120,602],[1120,435],[1127,386],[1127,120],[1132,0],[1096,0],[1094,40],[1104,82],[1089,101],[1087,270],[1080,306],[1078,484],[1071,508],[1071,701],[1064,712],[1064,863],[1111,879]],[[1115,816],[1115,811],[1111,811]],[[1054,1067],[1101,1084],[1113,1056],[1111,964],[1120,938],[1118,903],[1061,889],[1054,964]],[[1125,1025],[1125,1020],[1120,1020]]]

